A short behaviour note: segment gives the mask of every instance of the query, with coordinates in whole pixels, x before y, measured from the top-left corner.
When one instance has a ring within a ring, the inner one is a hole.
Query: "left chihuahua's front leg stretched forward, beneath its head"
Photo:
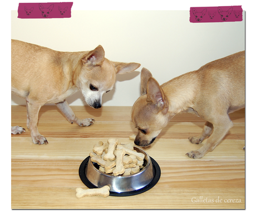
[[[90,126],[93,124],[93,122],[95,122],[93,118],[85,118],[83,120],[78,119],[66,100],[63,102],[56,103],[56,106],[65,115],[65,117],[70,123],[75,122],[78,126]]]

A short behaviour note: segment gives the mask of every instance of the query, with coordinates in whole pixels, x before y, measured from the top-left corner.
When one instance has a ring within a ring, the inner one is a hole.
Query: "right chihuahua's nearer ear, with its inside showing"
[[[164,114],[168,112],[169,107],[164,91],[153,77],[147,81],[147,102],[155,105]]]

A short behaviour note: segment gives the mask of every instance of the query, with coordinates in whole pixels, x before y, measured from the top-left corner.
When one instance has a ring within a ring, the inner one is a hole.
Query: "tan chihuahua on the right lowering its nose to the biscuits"
[[[207,63],[161,86],[142,68],[141,97],[131,111],[139,130],[134,142],[139,146],[150,145],[173,116],[189,112],[206,120],[201,135],[189,137],[190,142],[199,144],[210,135],[199,150],[186,153],[191,158],[201,158],[213,151],[233,126],[228,114],[244,106],[244,51]]]

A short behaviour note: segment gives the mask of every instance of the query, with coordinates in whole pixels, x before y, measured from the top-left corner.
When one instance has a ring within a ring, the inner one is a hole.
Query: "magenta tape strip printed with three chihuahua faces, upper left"
[[[18,18],[70,18],[73,2],[19,3]]]

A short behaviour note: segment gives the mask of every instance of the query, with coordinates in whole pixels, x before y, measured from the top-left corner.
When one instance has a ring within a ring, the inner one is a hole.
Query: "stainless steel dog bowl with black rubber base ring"
[[[88,156],[80,165],[80,178],[89,188],[110,186],[110,195],[129,196],[140,194],[153,187],[160,179],[160,167],[144,150],[134,146],[137,152],[144,153],[144,165],[136,174],[114,176],[99,171],[99,165],[91,162]]]

